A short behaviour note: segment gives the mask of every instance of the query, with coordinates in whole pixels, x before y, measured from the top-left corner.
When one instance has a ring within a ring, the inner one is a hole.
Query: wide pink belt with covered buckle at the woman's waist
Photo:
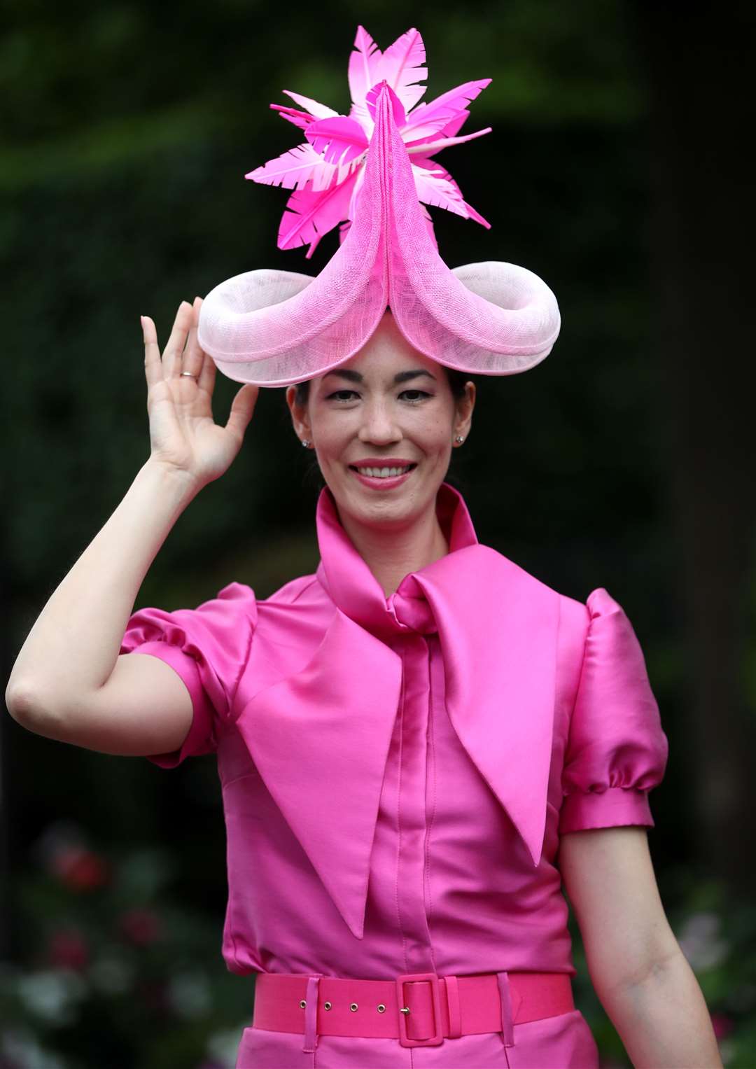
[[[406,973],[394,980],[259,973],[252,1027],[300,1032],[306,1051],[314,1050],[317,1035],[436,1047],[445,1038],[503,1032],[512,1045],[512,1025],[574,1008],[568,973]]]

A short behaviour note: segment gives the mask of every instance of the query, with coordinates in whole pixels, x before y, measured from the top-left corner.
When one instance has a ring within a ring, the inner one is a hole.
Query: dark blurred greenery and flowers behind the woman
[[[331,232],[311,261],[276,248],[289,191],[243,176],[304,138],[268,104],[290,89],[346,113],[357,26],[383,49],[416,26],[426,99],[493,79],[461,131],[493,133],[438,157],[492,229],[431,208],[442,255],[522,264],[562,314],[543,363],[478,379],[450,481],[481,542],[582,601],[606,587],[630,616],[670,743],[651,795],[662,897],[725,1063],[756,1063],[752,7],[3,13],[4,678],[148,458],[140,313],[163,345],[182,299],[252,267],[317,274],[337,247]],[[219,422],[237,388],[218,375]],[[234,579],[264,598],[312,570],[319,485],[283,391],[263,390],[241,454],[181,517],[136,607],[191,607]],[[251,987],[220,958],[214,758],[168,773],[7,715],[0,757],[0,1066],[45,1052],[63,1069],[227,1065]],[[605,1065],[627,1065],[589,985],[576,990]]]

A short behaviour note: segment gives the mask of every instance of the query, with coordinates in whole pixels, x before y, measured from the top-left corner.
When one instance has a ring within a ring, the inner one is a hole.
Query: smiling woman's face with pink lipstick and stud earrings
[[[310,382],[306,406],[293,386],[287,402],[340,515],[399,529],[435,509],[454,438],[467,437],[475,385],[456,399],[444,368],[414,350],[386,312],[359,353]]]

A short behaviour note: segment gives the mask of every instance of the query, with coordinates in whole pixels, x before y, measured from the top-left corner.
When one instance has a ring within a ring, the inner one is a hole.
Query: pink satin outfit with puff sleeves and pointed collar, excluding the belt
[[[324,490],[313,575],[128,621],[121,652],[160,657],[194,703],[181,749],[150,760],[217,757],[232,973],[573,976],[560,834],[653,826],[667,739],[620,605],[559,594],[479,544],[446,483],[436,510],[450,552],[388,599]],[[236,1065],[598,1066],[578,1009],[512,1037],[320,1035],[312,1052],[250,1016]]]

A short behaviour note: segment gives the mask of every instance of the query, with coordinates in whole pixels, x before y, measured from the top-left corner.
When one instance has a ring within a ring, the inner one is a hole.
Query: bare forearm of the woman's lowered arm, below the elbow
[[[597,994],[635,1069],[722,1069],[709,1010],[682,951],[646,979]]]

